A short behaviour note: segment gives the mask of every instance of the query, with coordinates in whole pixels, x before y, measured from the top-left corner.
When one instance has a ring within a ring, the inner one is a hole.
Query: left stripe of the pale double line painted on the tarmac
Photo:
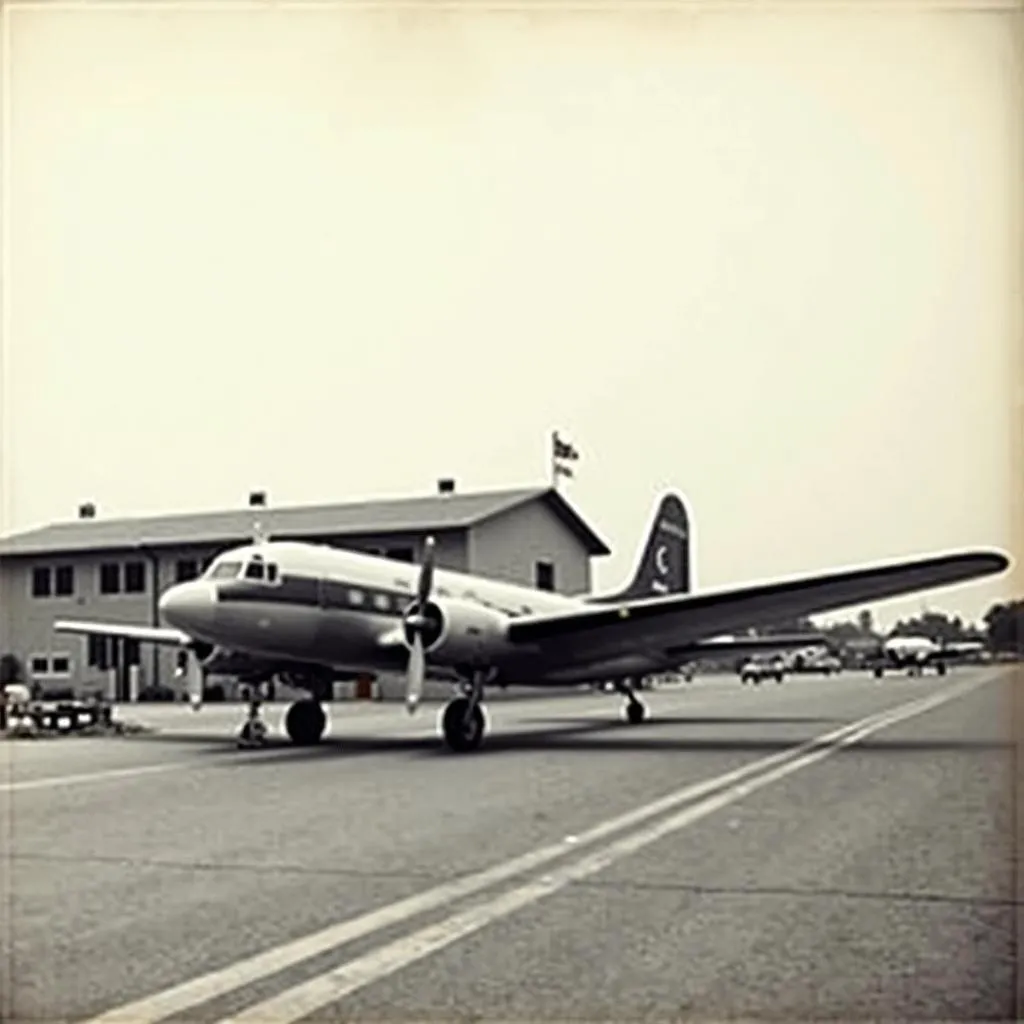
[[[981,683],[975,683],[975,685],[981,685]],[[920,702],[912,701],[910,705],[902,707],[915,707]],[[807,751],[835,742],[844,735],[869,726],[877,720],[883,720],[890,714],[891,711],[880,712],[859,722],[845,725],[807,742],[794,744],[792,748],[761,758],[722,775],[677,790],[626,814],[609,818],[570,839],[563,839],[560,842],[541,847],[482,871],[464,876],[415,896],[371,910],[360,916],[331,925],[311,935],[295,939],[246,959],[238,961],[220,970],[212,971],[153,995],[117,1007],[93,1018],[88,1024],[140,1024],[143,1021],[156,1021],[184,1013],[202,1002],[252,984],[312,956],[354,942],[392,925],[409,921],[418,914],[444,907],[457,899],[472,896],[502,882],[510,881],[568,853],[579,852],[588,845],[597,843],[625,828],[642,824],[647,819],[674,810],[681,804],[707,797],[716,790],[766,771],[774,765],[785,763]]]

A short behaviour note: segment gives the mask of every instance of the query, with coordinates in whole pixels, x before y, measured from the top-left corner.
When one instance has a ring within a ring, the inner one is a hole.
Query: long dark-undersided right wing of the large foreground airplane
[[[744,587],[641,598],[580,611],[529,615],[509,624],[514,643],[557,646],[561,658],[592,659],[638,645],[682,647],[730,630],[829,611],[1000,572],[992,551],[919,558]]]

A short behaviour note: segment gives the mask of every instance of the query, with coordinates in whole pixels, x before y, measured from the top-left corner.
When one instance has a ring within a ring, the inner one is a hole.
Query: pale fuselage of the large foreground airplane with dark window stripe
[[[347,672],[400,671],[409,656],[402,616],[416,599],[419,571],[353,551],[267,542],[221,554],[203,578],[166,591],[161,610],[172,626],[224,650]],[[559,672],[550,652],[502,644],[513,618],[579,610],[584,597],[437,569],[432,599],[446,620],[434,675],[471,668],[484,655],[501,681],[535,684],[668,667],[664,657],[634,654]]]

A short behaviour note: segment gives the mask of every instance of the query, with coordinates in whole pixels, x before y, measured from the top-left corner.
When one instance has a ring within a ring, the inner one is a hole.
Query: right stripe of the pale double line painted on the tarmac
[[[280,995],[258,1002],[230,1018],[225,1018],[218,1024],[227,1024],[228,1021],[230,1024],[267,1024],[268,1021],[273,1021],[273,1024],[290,1024],[292,1021],[316,1013],[356,989],[380,981],[410,964],[429,956],[473,932],[479,931],[499,919],[506,918],[516,910],[564,889],[571,882],[579,882],[595,874],[657,840],[686,828],[709,814],[742,800],[752,793],[771,785],[786,775],[830,757],[844,746],[855,743],[872,732],[924,714],[926,711],[946,703],[980,685],[981,683],[978,682],[967,686],[962,685],[931,698],[915,700],[909,706],[903,706],[881,718],[876,716],[874,721],[857,723],[852,730],[846,731],[845,735],[829,741],[826,745],[798,757],[791,757],[783,764],[746,781],[730,785],[724,792],[701,800],[668,818],[663,818],[649,827],[631,833],[594,853],[572,860],[560,867],[555,867],[540,879],[527,882],[525,885],[496,898],[481,900],[438,924],[421,928],[411,935],[371,950],[362,956],[341,965],[341,967],[295,985]]]

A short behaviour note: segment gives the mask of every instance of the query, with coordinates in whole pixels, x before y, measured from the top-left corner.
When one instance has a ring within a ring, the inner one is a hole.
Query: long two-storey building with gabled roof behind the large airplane
[[[119,699],[179,688],[175,651],[155,644],[53,632],[59,618],[165,626],[157,602],[199,575],[221,551],[252,540],[255,523],[274,540],[330,544],[418,561],[436,539],[437,565],[564,594],[591,589],[591,559],[605,543],[552,487],[390,501],[269,508],[262,495],[225,512],[104,519],[79,517],[0,540],[0,655],[13,654],[44,691],[113,691]]]

